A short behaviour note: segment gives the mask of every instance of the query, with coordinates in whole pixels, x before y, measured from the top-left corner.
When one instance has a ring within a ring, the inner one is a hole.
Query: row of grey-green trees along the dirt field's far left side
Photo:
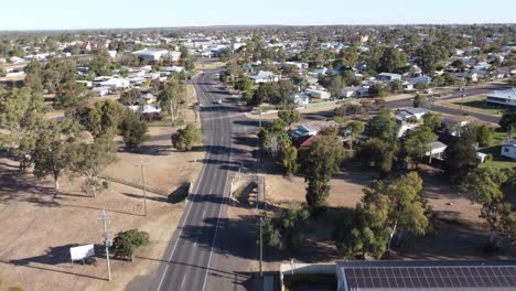
[[[95,194],[100,171],[116,161],[116,134],[130,150],[146,139],[147,123],[117,101],[98,103],[64,120],[45,119],[41,93],[29,87],[0,94],[2,148],[20,162],[20,170],[33,168],[39,179],[52,176],[58,190],[61,177],[85,176],[85,191]]]

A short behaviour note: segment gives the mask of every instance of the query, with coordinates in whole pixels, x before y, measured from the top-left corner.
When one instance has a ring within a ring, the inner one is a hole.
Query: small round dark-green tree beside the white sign
[[[112,240],[112,249],[115,257],[129,259],[132,261],[132,256],[137,248],[148,246],[150,244],[149,234],[138,229],[131,229],[118,233]]]

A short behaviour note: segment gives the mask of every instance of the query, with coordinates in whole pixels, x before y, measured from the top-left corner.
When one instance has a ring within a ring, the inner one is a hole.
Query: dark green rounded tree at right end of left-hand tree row
[[[139,148],[150,138],[147,132],[147,123],[146,121],[140,120],[140,115],[127,110],[120,123],[120,133],[123,138],[126,147],[129,150]]]

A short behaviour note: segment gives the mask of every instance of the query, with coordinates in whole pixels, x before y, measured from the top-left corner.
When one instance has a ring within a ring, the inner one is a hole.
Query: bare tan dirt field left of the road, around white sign
[[[189,104],[194,95],[190,95]],[[195,115],[186,111],[186,121]],[[18,285],[24,290],[125,290],[139,276],[152,272],[175,230],[185,203],[170,194],[183,183],[194,182],[204,152],[176,152],[171,133],[179,127],[152,127],[140,151],[125,151],[106,169],[108,188],[96,197],[80,191],[80,179],[62,181],[55,193],[50,180],[20,174],[17,163],[0,157],[0,290]],[[143,216],[144,164],[148,216]],[[138,228],[150,234],[151,245],[136,252],[132,262],[112,259],[112,281],[107,281],[101,252],[100,212],[106,209],[109,237]],[[82,265],[69,263],[69,247],[95,244],[97,256]]]

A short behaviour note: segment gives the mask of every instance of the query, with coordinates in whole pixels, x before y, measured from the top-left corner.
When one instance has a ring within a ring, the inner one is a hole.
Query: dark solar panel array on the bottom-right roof
[[[351,290],[515,288],[515,266],[345,267]]]

